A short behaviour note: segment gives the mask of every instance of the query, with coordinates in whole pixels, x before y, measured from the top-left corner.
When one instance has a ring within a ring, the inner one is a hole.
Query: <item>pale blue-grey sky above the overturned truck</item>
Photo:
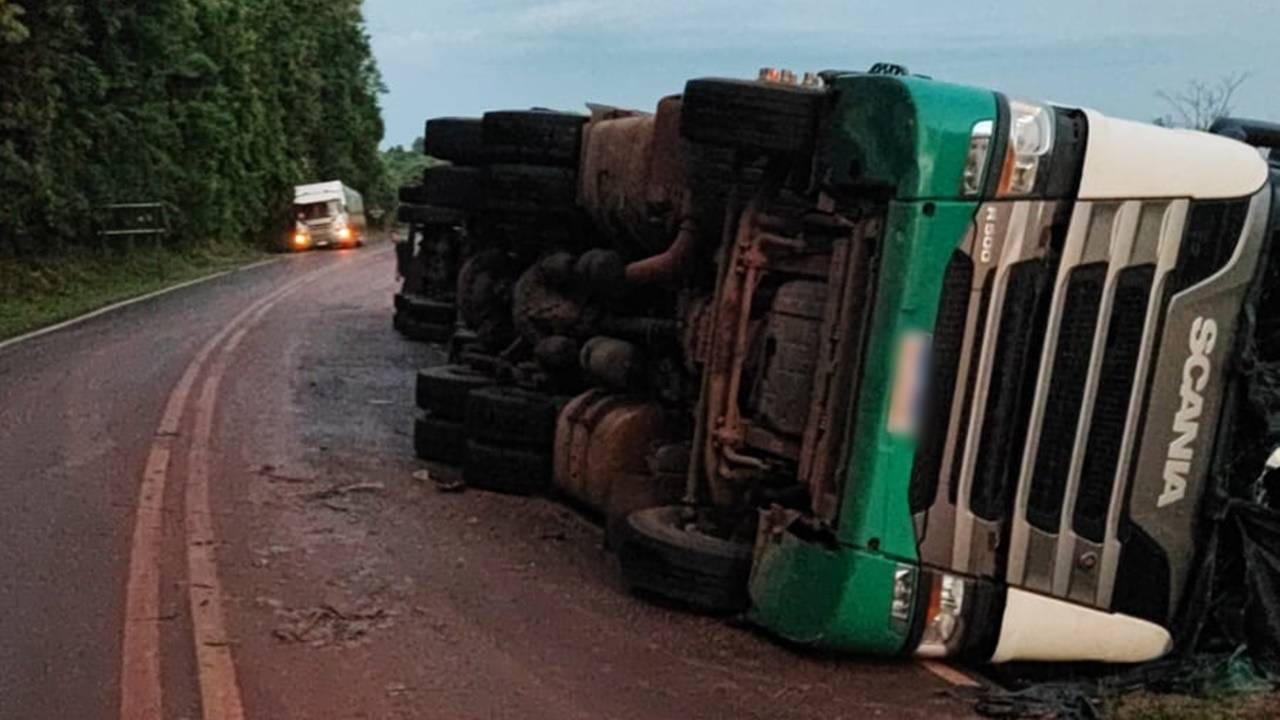
[[[1247,72],[1235,114],[1280,120],[1277,0],[365,0],[365,15],[387,145],[428,117],[652,110],[691,77],[881,60],[1142,120],[1167,111],[1158,90]]]

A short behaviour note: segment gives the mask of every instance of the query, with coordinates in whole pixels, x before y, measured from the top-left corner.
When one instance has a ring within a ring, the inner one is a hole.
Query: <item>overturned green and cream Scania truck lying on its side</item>
[[[1275,302],[1280,133],[1224,127],[896,68],[431,120],[419,454],[794,642],[1158,657]]]

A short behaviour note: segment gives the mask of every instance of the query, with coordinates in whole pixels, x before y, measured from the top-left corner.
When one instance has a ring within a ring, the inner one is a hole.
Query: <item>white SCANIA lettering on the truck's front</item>
[[[1196,318],[1188,338],[1190,356],[1183,364],[1181,404],[1174,415],[1174,439],[1165,459],[1165,491],[1156,501],[1157,507],[1167,507],[1187,496],[1187,477],[1196,459],[1196,438],[1199,436],[1201,415],[1204,414],[1204,387],[1213,370],[1210,355],[1215,342],[1217,322]]]

